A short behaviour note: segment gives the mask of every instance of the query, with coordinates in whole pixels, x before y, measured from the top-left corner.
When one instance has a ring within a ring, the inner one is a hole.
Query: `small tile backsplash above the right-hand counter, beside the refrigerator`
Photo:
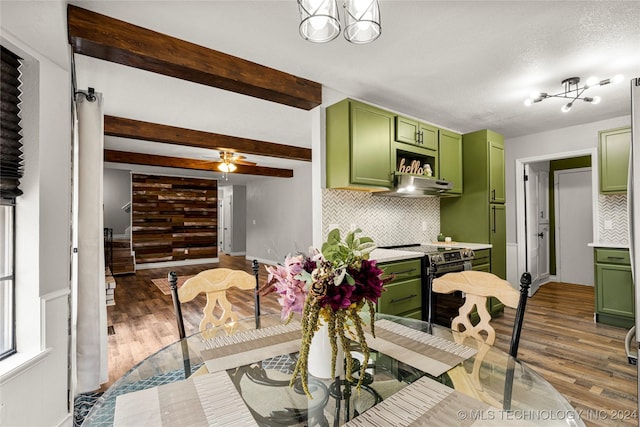
[[[629,244],[629,213],[626,194],[600,194],[598,196],[598,242]],[[605,222],[611,221],[611,224]],[[610,225],[610,229],[605,227]]]

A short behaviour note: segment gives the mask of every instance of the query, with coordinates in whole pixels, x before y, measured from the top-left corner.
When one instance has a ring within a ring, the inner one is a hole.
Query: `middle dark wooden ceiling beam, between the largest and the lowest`
[[[185,129],[123,117],[104,116],[104,134],[144,141],[178,144],[187,147],[228,150],[256,156],[311,161],[311,149],[309,148]]]

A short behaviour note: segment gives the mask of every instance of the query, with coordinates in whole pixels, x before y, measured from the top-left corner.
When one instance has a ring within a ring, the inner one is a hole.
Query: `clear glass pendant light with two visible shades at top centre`
[[[382,33],[378,0],[345,0],[344,38],[354,44],[374,41]],[[327,43],[340,34],[337,0],[298,0],[300,35],[313,43]]]

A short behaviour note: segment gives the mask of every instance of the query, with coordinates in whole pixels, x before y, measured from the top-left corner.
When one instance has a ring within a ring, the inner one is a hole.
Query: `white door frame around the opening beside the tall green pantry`
[[[543,154],[540,156],[534,157],[523,157],[520,159],[516,159],[516,244],[517,244],[517,260],[516,266],[517,271],[524,272],[527,265],[527,229],[526,229],[526,200],[525,200],[525,191],[524,191],[524,165],[527,163],[537,163],[544,162],[547,160],[559,160],[566,159],[569,157],[580,157],[580,156],[591,156],[591,196],[592,196],[592,209],[593,209],[593,238],[597,241],[598,239],[598,223],[599,223],[599,212],[598,212],[598,189],[599,185],[599,168],[598,168],[598,148],[585,148],[582,150],[575,151],[565,151],[562,153],[553,153],[553,154]],[[550,242],[551,243],[551,242]],[[519,279],[519,276],[518,276]],[[532,284],[531,289],[529,289],[529,296],[533,295],[540,284]]]

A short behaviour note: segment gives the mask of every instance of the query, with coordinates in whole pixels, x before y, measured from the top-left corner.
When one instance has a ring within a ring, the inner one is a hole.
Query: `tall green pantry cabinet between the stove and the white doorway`
[[[440,231],[458,242],[491,243],[491,272],[506,279],[504,139],[490,130],[462,135],[460,197],[440,199]]]

